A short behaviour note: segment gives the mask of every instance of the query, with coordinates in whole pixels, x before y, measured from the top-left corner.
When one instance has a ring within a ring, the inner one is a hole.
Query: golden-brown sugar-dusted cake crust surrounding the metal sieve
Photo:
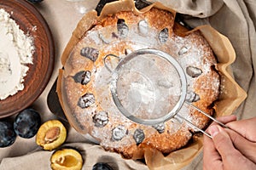
[[[129,35],[122,37],[119,34],[116,25],[119,19],[125,21],[129,34],[131,34],[130,37]],[[146,26],[148,26],[146,36],[141,35],[144,32],[139,29],[138,32],[134,31],[141,20],[146,20]],[[86,32],[84,38],[73,48],[66,60],[61,83],[64,110],[68,112],[67,115],[75,117],[82,133],[90,133],[106,150],[117,151],[126,158],[132,159],[142,158],[147,148],[168,154],[172,150],[183,147],[192,136],[191,128],[181,120],[171,119],[160,127],[145,126],[131,122],[112,108],[111,94],[105,93],[106,88],[97,88],[98,81],[103,80],[107,74],[102,69],[104,67],[102,60],[110,53],[122,56],[125,55],[126,49],[158,48],[176,57],[182,63],[184,70],[193,67],[196,71],[202,71],[201,75],[196,77],[188,75],[194,74],[193,71],[187,73],[188,90],[200,98],[194,104],[212,115],[213,109],[210,106],[218,99],[219,88],[218,73],[212,69],[216,65],[216,59],[199,31],[190,33],[186,37],[179,37],[172,31],[173,25],[173,14],[157,8],[139,15],[132,12],[113,14],[104,20],[98,20],[97,25]],[[160,31],[164,29],[167,29],[168,40],[160,39]],[[176,27],[176,29],[178,32],[179,28]],[[152,40],[152,42],[148,45],[148,42],[139,42],[143,41],[140,38],[136,42],[135,37],[149,38],[147,40]],[[90,53],[97,52],[97,59],[92,61],[81,56],[82,48]],[[90,82],[85,85],[75,82],[75,77],[80,71],[90,71]],[[94,101],[91,105],[82,108],[79,106],[79,99],[86,94],[92,94]],[[95,118],[100,113],[102,114],[100,117],[104,120],[101,120],[102,124],[96,124]],[[188,105],[182,108],[180,114],[198,127],[207,125],[208,118]],[[108,121],[106,121],[107,118]],[[114,138],[115,132],[120,136]],[[135,134],[139,139],[135,139]]]

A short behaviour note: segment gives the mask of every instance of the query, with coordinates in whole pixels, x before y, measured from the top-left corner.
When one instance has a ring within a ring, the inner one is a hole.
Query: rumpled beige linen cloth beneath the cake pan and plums
[[[155,1],[150,1],[155,2]],[[256,116],[256,2],[255,0],[162,0],[161,3],[184,14],[189,26],[211,25],[224,36],[229,37],[236,50],[236,61],[232,65],[236,82],[247,92],[247,99],[235,114],[239,119]],[[84,12],[96,8],[98,1],[84,1]],[[82,14],[76,13],[76,3],[64,0],[49,0],[37,5],[44,15],[55,38],[55,70],[40,98],[32,105],[42,114],[42,121],[58,118],[50,113],[46,97],[55,82],[60,57],[72,31]],[[68,123],[66,122],[68,127]],[[140,161],[124,160],[118,154],[109,153],[100,146],[90,144],[88,139],[68,129],[67,141],[63,146],[81,150],[83,169],[91,169],[97,161],[107,161],[114,169],[148,169]],[[0,149],[0,169],[50,169],[49,158],[53,151],[44,151],[35,144],[35,138],[17,138],[15,144]],[[183,169],[202,169],[202,153]]]

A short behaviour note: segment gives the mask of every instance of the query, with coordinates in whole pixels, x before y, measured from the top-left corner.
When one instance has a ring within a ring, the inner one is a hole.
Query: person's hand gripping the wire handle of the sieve
[[[236,116],[218,118],[229,128],[212,123],[204,137],[204,169],[256,169],[256,117],[236,121]],[[233,129],[233,130],[231,130]]]

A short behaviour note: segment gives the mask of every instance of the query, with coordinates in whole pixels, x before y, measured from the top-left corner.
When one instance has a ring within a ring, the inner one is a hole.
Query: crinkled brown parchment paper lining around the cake
[[[134,14],[142,14],[150,10],[150,8],[162,8],[169,10],[172,14],[176,15],[176,12],[172,8],[164,6],[162,3],[154,3],[147,8],[137,10],[133,1],[117,1],[108,3],[102,9],[102,14],[97,17],[94,11],[85,14],[83,19],[79,21],[79,25],[73,31],[73,37],[67,44],[67,48],[62,54],[61,61],[62,65],[65,65],[67,57],[69,56],[73,47],[83,38],[84,33],[90,29],[94,24],[94,20],[102,20],[109,14],[115,14],[119,11],[133,11]],[[200,30],[203,36],[207,39],[214,54],[218,58],[217,69],[221,75],[222,89],[218,102],[214,106],[216,110],[216,116],[230,115],[236,108],[241,105],[241,102],[246,98],[247,94],[239,87],[236,81],[233,79],[230,65],[236,59],[235,50],[232,47],[229,39],[224,37],[218,31],[213,29],[211,26],[200,26],[196,27],[192,31]],[[180,35],[189,34],[192,31],[178,32]],[[57,93],[61,101],[61,77],[62,70],[60,70],[60,77],[57,86]],[[62,107],[63,108],[63,107]],[[71,122],[75,126],[74,122]],[[78,129],[77,127],[75,127]],[[150,169],[163,169],[165,167],[172,169],[179,169],[186,166],[197,156],[202,150],[202,137],[194,137],[193,144],[189,144],[181,150],[176,150],[168,156],[163,156],[158,150],[146,150],[145,161]]]

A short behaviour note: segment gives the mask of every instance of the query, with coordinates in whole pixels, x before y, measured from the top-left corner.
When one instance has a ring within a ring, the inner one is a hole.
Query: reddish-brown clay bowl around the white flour
[[[49,82],[55,59],[53,37],[44,17],[31,3],[20,0],[0,1],[0,8],[8,12],[20,29],[33,37],[35,52],[33,65],[24,78],[24,89],[0,100],[0,118],[14,115],[31,105]]]

